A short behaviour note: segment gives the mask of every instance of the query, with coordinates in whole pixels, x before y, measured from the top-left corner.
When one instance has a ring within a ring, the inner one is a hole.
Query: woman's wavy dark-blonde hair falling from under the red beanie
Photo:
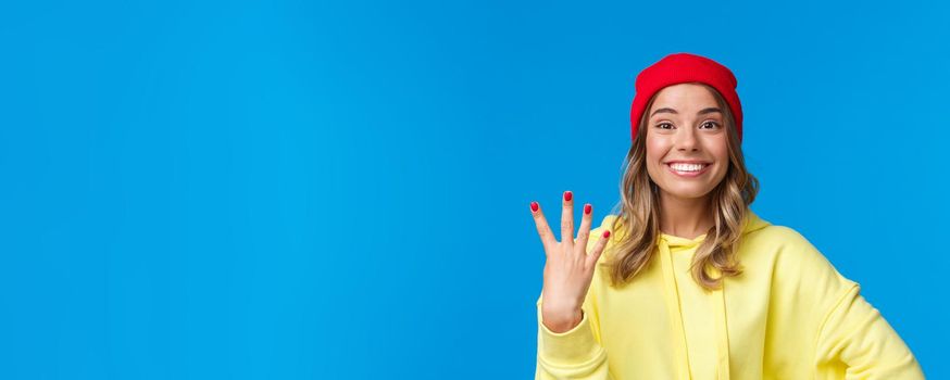
[[[727,129],[727,145],[729,167],[723,180],[710,192],[711,212],[714,213],[715,225],[707,232],[690,264],[693,279],[708,290],[718,289],[726,276],[738,276],[742,273],[737,257],[739,240],[742,236],[746,210],[755,200],[759,192],[759,180],[746,169],[742,149],[736,132],[736,123],[726,101],[713,87],[702,84],[712,92],[723,110],[723,122]],[[659,92],[658,92],[659,93]],[[640,274],[650,259],[660,237],[660,189],[647,173],[647,121],[649,110],[657,94],[647,103],[639,121],[637,137],[630,145],[624,160],[624,174],[621,180],[621,201],[611,214],[616,214],[611,230],[620,242],[611,248],[610,259],[604,261],[610,274],[611,284],[625,284]],[[633,223],[627,223],[632,220]],[[721,274],[713,277],[710,269]]]

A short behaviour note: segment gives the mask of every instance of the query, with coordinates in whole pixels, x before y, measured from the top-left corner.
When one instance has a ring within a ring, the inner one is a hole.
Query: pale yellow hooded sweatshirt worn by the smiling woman
[[[607,216],[590,236],[610,229]],[[580,324],[555,333],[538,299],[536,379],[923,379],[876,308],[796,230],[748,211],[742,275],[705,291],[689,264],[705,235],[662,233],[658,254],[625,287],[600,266]],[[612,231],[613,232],[613,231]],[[588,252],[597,239],[591,238]]]

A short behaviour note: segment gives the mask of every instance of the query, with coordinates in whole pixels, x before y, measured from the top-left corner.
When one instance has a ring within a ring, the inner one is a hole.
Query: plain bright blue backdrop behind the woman
[[[678,51],[739,78],[753,210],[948,378],[948,16],[4,2],[0,378],[530,378],[528,203],[604,216],[634,78]]]

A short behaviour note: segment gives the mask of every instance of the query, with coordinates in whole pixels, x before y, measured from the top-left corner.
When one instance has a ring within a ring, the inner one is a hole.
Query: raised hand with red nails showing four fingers
[[[532,215],[538,228],[538,236],[545,245],[545,284],[541,290],[541,318],[545,326],[553,332],[564,332],[580,324],[584,311],[580,306],[587,296],[593,268],[603,248],[607,245],[610,231],[597,237],[598,242],[592,252],[587,252],[587,241],[590,235],[592,206],[584,205],[584,217],[580,220],[580,231],[574,240],[574,194],[564,192],[561,210],[561,241],[554,238],[545,213],[538,202],[532,202]]]

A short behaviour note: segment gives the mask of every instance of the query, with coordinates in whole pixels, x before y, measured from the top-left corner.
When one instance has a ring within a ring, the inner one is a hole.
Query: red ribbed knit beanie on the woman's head
[[[736,93],[736,76],[728,67],[705,56],[674,53],[637,74],[637,94],[630,106],[630,140],[637,138],[637,124],[646,112],[647,102],[662,88],[687,81],[701,81],[715,88],[725,98],[736,119],[736,132],[742,141],[742,104]]]

